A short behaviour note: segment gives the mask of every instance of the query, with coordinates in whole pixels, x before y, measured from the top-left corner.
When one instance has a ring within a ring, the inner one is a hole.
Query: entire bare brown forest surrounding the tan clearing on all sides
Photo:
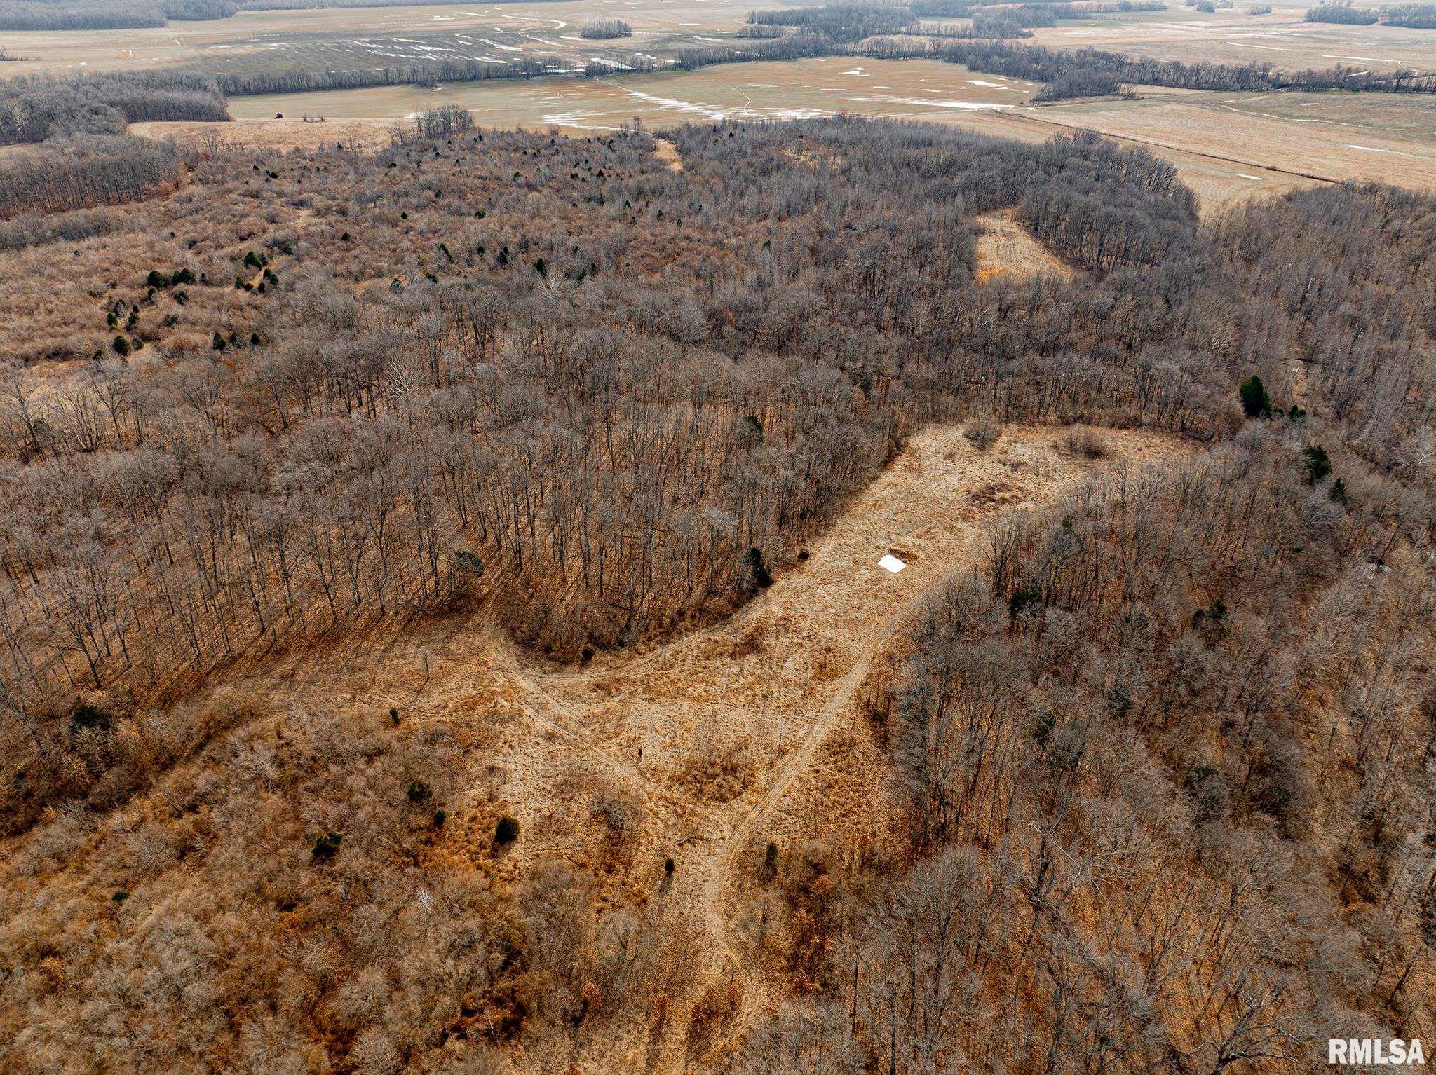
[[[1203,221],[1140,149],[857,119],[686,126],[681,171],[458,109],[144,164],[108,125],[223,109],[145,85],[0,99],[45,139],[0,181],[0,1068],[497,1074],[709,1018],[582,874],[432,865],[408,774],[455,729],[174,706],[444,616],[579,663],[711,623],[974,421],[1211,451],[1001,517],[933,596],[864,693],[895,835],[774,848],[775,1008],[724,1068],[1235,1075],[1436,1033],[1436,201]],[[164,197],[109,204],[146,168]],[[997,210],[1070,278],[978,284]]]

